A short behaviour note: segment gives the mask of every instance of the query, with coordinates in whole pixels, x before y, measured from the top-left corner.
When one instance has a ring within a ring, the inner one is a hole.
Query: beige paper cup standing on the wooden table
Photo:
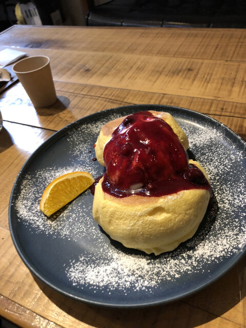
[[[48,107],[55,103],[57,98],[49,57],[28,57],[19,60],[12,69],[20,83],[22,83],[34,107]]]

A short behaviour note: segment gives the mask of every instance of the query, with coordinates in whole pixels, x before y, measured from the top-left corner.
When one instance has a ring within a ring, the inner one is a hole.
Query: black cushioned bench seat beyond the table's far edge
[[[246,0],[88,1],[89,26],[245,28]]]

